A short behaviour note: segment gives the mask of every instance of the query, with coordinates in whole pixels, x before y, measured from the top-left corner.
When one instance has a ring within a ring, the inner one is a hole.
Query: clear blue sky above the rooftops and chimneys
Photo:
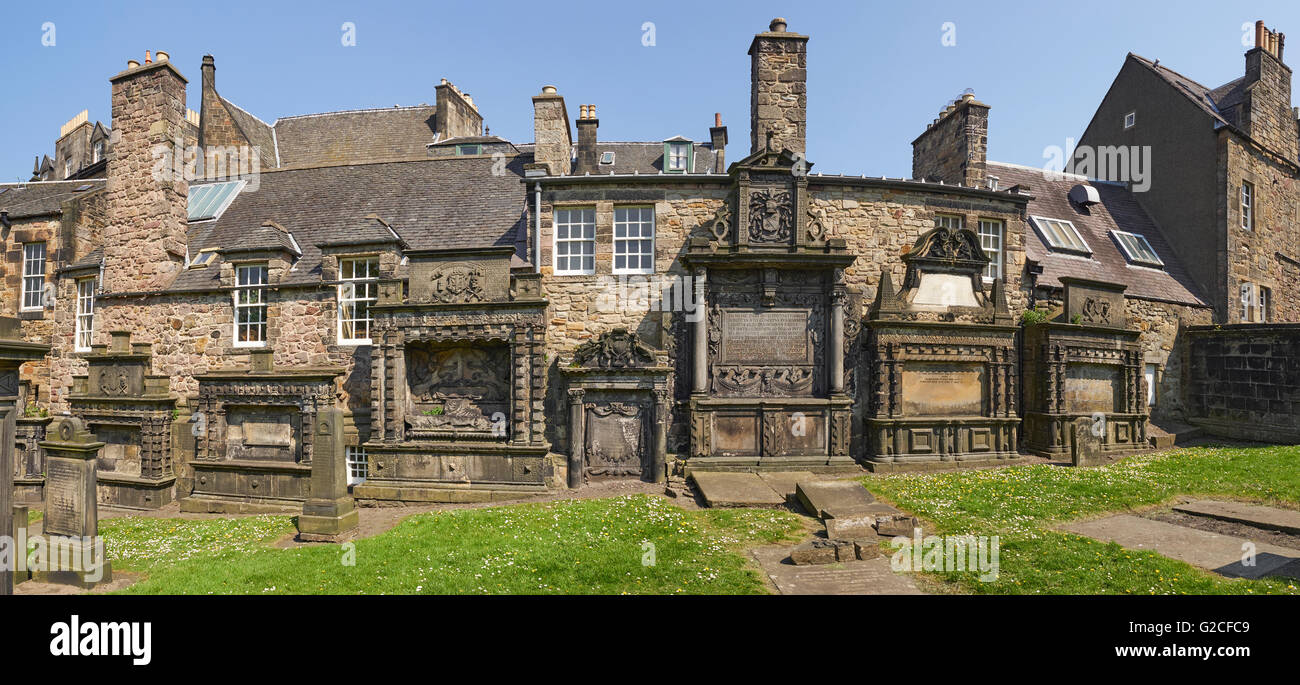
[[[530,142],[529,97],[554,83],[571,116],[597,104],[606,140],[705,140],[720,112],[736,160],[749,151],[746,49],[776,16],[811,36],[807,155],[826,173],[910,175],[911,140],[965,88],[992,107],[991,159],[1043,165],[1045,147],[1083,133],[1130,51],[1214,87],[1242,75],[1243,25],[1262,18],[1297,36],[1288,55],[1300,55],[1295,0],[5,4],[0,181],[53,156],[82,109],[107,123],[108,78],[160,48],[190,79],[194,109],[211,52],[217,90],[266,122],[432,104],[447,78],[493,134]],[[344,22],[355,45],[342,44]],[[942,44],[946,22],[956,45]]]

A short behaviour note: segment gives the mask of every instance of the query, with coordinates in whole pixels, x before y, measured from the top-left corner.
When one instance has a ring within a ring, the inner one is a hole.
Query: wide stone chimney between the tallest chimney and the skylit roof
[[[988,181],[988,105],[965,94],[911,142],[911,177],[984,187]]]

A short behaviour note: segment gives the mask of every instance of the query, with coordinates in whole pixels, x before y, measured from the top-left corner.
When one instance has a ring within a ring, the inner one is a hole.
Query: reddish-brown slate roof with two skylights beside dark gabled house
[[[1034,196],[1028,214],[1074,222],[1084,242],[1092,248],[1092,257],[1066,255],[1048,250],[1046,242],[1035,227],[1024,238],[1026,255],[1043,265],[1039,285],[1061,287],[1062,276],[1092,278],[1124,283],[1124,295],[1143,299],[1206,305],[1182,263],[1174,255],[1169,240],[1138,204],[1134,194],[1117,183],[1089,182],[1074,174],[1060,174],[1049,179],[1043,169],[1014,164],[988,162],[988,173],[997,177],[1000,187],[1028,186]],[[1070,201],[1070,188],[1084,183],[1097,188],[1101,203],[1080,207]],[[1144,235],[1165,263],[1164,269],[1130,264],[1110,230]]]

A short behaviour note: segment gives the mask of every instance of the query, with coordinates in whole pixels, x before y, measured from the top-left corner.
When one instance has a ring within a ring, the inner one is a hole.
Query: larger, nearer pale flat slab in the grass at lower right
[[[1061,530],[1115,542],[1130,550],[1153,551],[1231,577],[1271,576],[1282,567],[1300,559],[1300,550],[1251,543],[1254,545],[1254,565],[1248,567],[1242,563],[1244,545],[1251,542],[1245,538],[1221,536],[1128,513],[1067,524],[1061,526]]]

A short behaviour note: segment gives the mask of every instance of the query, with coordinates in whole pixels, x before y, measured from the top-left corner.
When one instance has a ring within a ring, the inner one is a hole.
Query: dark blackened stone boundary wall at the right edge
[[[1300,443],[1300,325],[1188,329],[1191,421],[1230,438]]]

